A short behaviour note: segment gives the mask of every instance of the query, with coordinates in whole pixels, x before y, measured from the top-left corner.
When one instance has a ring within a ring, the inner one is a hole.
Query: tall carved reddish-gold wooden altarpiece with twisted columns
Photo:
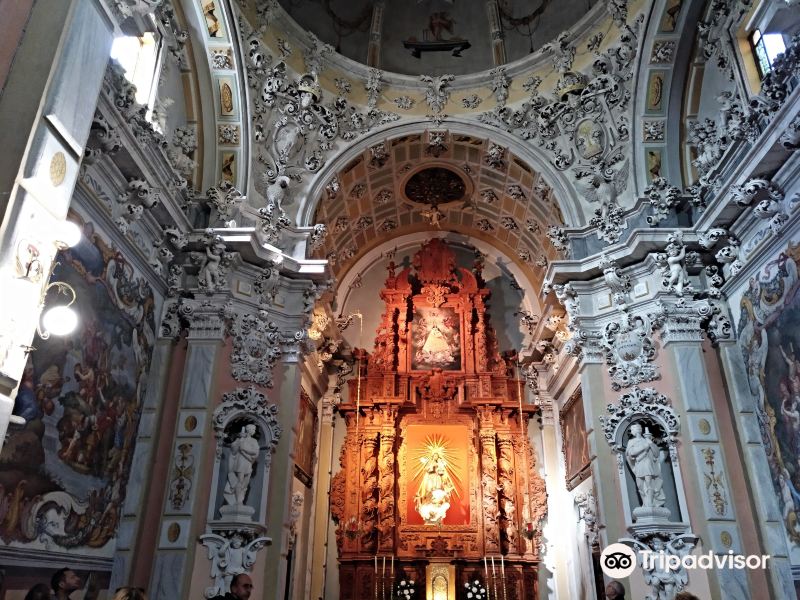
[[[389,598],[402,578],[419,582],[421,598],[434,563],[454,566],[456,597],[466,597],[465,581],[491,578],[484,557],[502,555],[506,599],[535,598],[546,492],[523,432],[538,407],[520,400],[515,365],[497,347],[482,265],[457,268],[434,239],[412,267],[388,271],[375,347],[355,352],[338,407],[341,597]]]

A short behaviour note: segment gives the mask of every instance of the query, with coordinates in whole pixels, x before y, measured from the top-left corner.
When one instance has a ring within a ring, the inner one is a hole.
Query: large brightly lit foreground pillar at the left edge
[[[0,447],[113,37],[99,0],[33,3],[0,95],[0,131],[13,132],[0,153]],[[39,253],[36,281],[21,279],[18,265],[29,247]]]

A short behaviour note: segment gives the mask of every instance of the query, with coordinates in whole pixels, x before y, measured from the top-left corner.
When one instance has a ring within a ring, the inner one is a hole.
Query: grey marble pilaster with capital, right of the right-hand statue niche
[[[682,471],[684,481],[676,485],[679,491],[684,488],[687,504],[694,508],[691,525],[703,540],[704,552],[727,554],[733,550],[746,554],[703,353],[701,325],[704,316],[709,314],[708,302],[681,301],[663,306],[661,340],[667,369],[678,384],[670,396],[681,417],[679,449],[682,462],[687,466]],[[736,456],[734,461],[738,460]],[[683,520],[688,521],[689,517],[683,515]],[[708,578],[714,596],[745,600],[759,595],[751,593],[747,570],[695,570],[690,574],[690,589],[697,590],[701,584],[697,580],[704,577]]]

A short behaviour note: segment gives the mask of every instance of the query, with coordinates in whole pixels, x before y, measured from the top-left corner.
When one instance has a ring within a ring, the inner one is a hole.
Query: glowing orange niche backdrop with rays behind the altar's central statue
[[[419,467],[419,450],[430,437],[440,437],[447,443],[448,454],[453,457],[452,469],[456,491],[450,495],[450,508],[442,523],[444,525],[469,524],[469,444],[470,430],[463,425],[409,425],[406,430],[405,485],[406,515],[409,525],[424,525],[422,517],[414,507],[414,496],[421,478],[414,479]]]

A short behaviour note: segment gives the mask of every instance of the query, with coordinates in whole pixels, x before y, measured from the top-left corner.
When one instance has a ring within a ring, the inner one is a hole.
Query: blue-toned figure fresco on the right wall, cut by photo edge
[[[800,546],[800,244],[750,280],[739,344],[788,539]]]

